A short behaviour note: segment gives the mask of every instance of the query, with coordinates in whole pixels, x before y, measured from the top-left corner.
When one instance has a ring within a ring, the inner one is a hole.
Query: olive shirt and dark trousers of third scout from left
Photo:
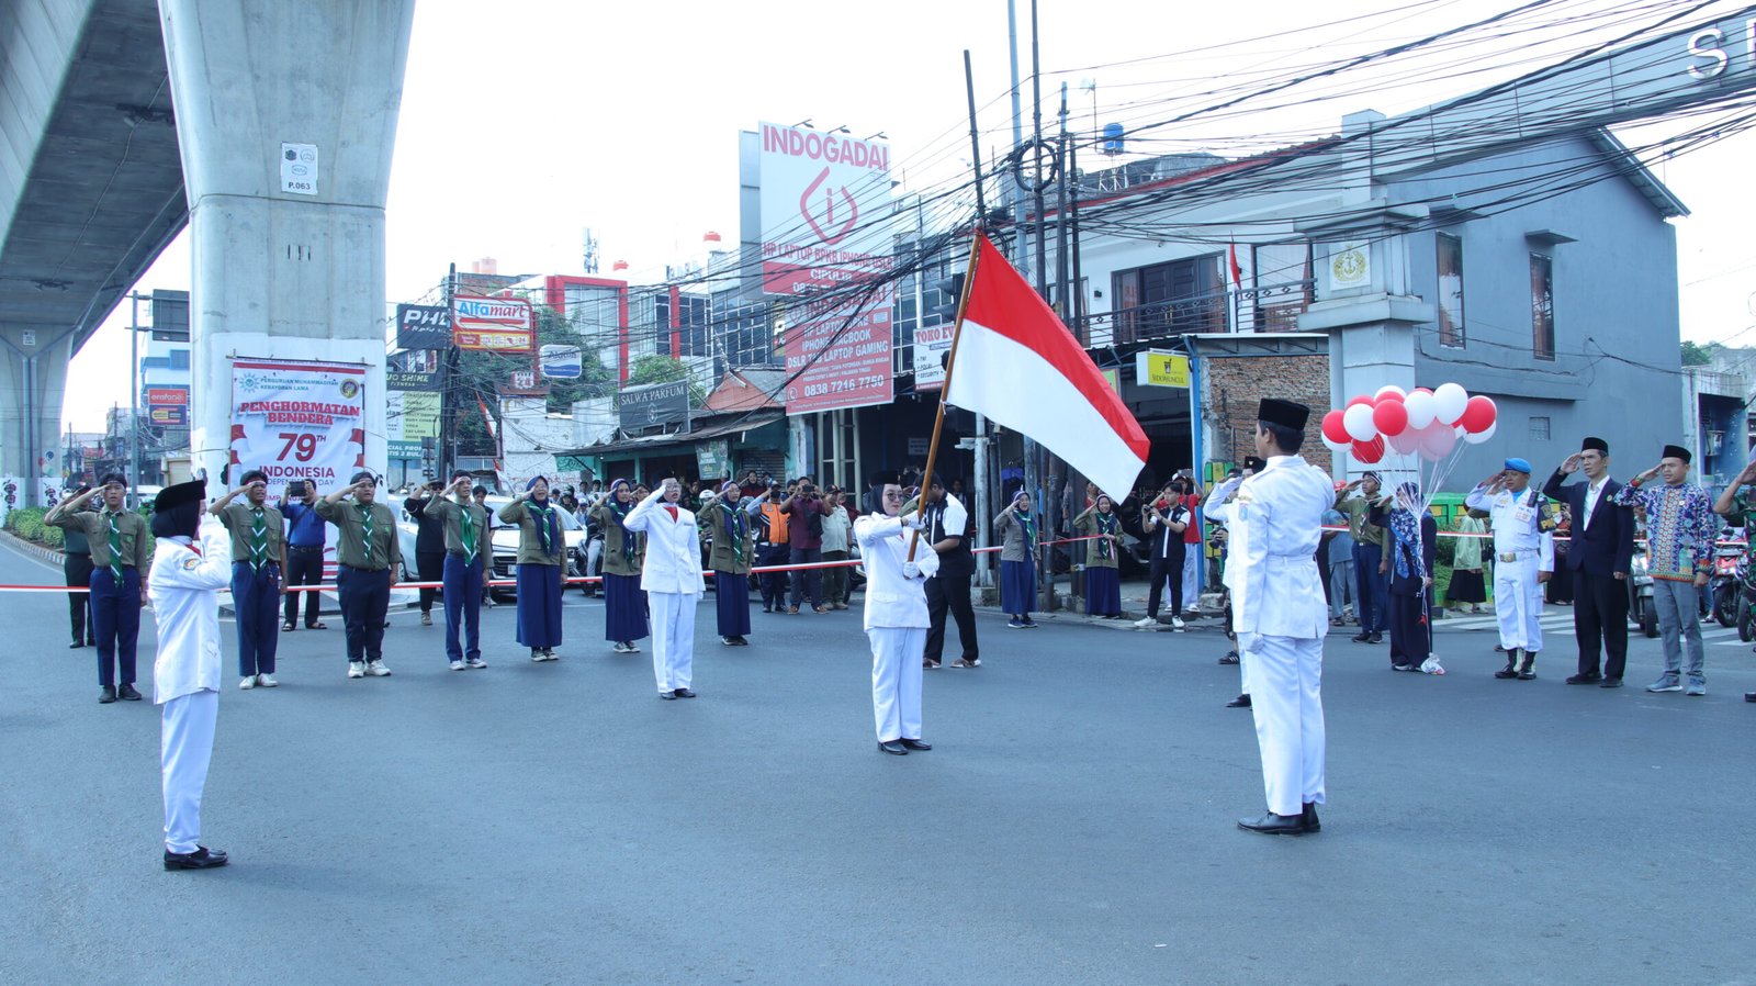
[[[365,478],[365,476],[360,476]],[[358,482],[358,478],[355,480]],[[318,517],[335,526],[335,594],[348,627],[348,677],[385,677],[385,615],[392,573],[402,566],[397,515],[383,503],[318,501]]]

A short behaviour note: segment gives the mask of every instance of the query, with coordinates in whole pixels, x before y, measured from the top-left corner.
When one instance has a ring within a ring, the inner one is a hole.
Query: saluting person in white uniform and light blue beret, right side
[[[1531,464],[1507,459],[1507,468],[1487,476],[1463,497],[1470,510],[1486,510],[1494,526],[1494,617],[1507,666],[1496,678],[1531,680],[1542,650],[1542,584],[1554,575],[1554,536],[1549,497],[1529,489]]]

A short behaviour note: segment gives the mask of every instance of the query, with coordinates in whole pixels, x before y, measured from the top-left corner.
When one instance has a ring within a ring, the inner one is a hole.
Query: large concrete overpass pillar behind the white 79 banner
[[[218,483],[230,459],[234,359],[274,359],[367,369],[365,462],[383,473],[385,197],[414,0],[160,0],[160,18],[190,199],[195,468]],[[283,142],[316,148],[314,195],[283,190]]]

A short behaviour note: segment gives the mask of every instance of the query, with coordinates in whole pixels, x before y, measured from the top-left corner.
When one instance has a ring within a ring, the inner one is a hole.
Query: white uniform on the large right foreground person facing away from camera
[[[1238,487],[1226,526],[1231,620],[1250,666],[1263,789],[1277,816],[1298,816],[1326,798],[1322,642],[1329,603],[1317,573],[1317,543],[1331,506],[1328,473],[1298,455],[1273,455]]]

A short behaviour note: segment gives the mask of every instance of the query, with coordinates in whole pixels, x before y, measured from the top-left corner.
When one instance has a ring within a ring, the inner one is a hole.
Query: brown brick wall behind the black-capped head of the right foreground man
[[[1312,410],[1301,453],[1312,466],[1333,471],[1329,446],[1319,434],[1329,411],[1329,357],[1220,357],[1201,360],[1201,369],[1210,460],[1241,462],[1256,455],[1257,404],[1263,397],[1282,397]]]

